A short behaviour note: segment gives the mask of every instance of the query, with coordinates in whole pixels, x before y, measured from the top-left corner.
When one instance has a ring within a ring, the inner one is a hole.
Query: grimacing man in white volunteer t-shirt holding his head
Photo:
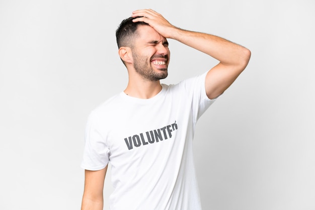
[[[196,121],[245,69],[251,53],[222,38],[176,28],[153,10],[133,12],[116,37],[129,82],[89,117],[82,209],[103,209],[109,162],[110,209],[201,209],[192,155]],[[161,84],[170,61],[167,38],[219,63],[179,84]]]

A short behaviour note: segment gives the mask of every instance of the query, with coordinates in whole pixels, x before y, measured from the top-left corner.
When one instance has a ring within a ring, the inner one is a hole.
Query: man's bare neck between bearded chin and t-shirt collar
[[[136,81],[136,80],[133,80]],[[162,90],[160,80],[157,81],[145,81],[140,80],[132,82],[129,78],[128,85],[124,92],[132,97],[148,99],[155,96]]]

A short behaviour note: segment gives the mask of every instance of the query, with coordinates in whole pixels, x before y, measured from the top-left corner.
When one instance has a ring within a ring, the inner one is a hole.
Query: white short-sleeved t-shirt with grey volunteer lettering
[[[149,99],[121,92],[91,113],[82,167],[111,163],[110,209],[201,209],[192,140],[197,120],[214,102],[205,76],[162,84]]]

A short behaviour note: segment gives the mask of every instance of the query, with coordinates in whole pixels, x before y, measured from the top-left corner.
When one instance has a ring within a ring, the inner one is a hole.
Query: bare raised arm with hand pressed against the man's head
[[[149,24],[165,38],[177,40],[219,61],[206,75],[205,89],[210,99],[223,93],[250,60],[251,51],[247,48],[214,35],[177,28],[153,10],[137,10],[132,17],[139,17],[133,21]]]

